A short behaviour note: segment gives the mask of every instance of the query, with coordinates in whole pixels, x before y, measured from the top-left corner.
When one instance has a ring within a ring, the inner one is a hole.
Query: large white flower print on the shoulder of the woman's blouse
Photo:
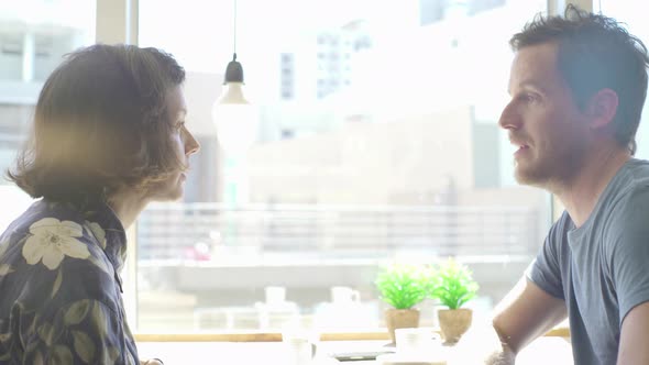
[[[88,247],[75,237],[82,235],[81,225],[73,221],[59,221],[56,218],[43,218],[30,226],[32,235],[22,247],[22,255],[28,264],[35,265],[43,259],[43,265],[53,270],[65,256],[88,258]]]

